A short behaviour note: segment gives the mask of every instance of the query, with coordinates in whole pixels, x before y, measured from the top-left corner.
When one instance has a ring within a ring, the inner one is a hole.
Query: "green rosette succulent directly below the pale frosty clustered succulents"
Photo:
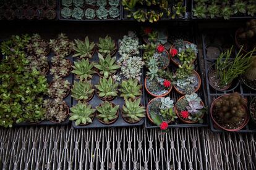
[[[124,99],[135,100],[142,95],[142,85],[139,84],[138,79],[130,78],[122,81],[119,91],[121,92],[120,96]]]

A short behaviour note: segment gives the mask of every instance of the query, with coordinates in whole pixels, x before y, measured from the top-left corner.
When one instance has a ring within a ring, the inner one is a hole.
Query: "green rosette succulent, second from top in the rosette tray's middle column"
[[[94,67],[97,69],[99,76],[108,78],[109,76],[116,73],[116,70],[120,68],[120,66],[115,63],[116,57],[111,58],[110,54],[108,54],[106,59],[104,59],[100,53],[98,54],[98,57],[99,63]]]

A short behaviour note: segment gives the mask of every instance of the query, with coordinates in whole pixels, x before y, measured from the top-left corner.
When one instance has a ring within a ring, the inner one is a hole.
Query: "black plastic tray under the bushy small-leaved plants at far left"
[[[51,51],[48,55],[48,61],[49,61],[49,68],[51,68],[51,58],[54,56],[54,52]],[[72,54],[68,55],[67,57],[65,57],[65,59],[69,59],[72,64],[73,64],[73,59],[74,57],[72,57]],[[48,84],[51,83],[53,76],[49,74],[46,75]],[[73,83],[73,73],[70,73],[69,76],[67,76],[66,78],[70,83],[70,87],[72,87],[72,83]],[[48,97],[46,97],[48,98]],[[67,95],[67,97],[64,99],[64,101],[67,103],[67,105],[69,106],[69,108],[72,106],[72,99],[71,99],[71,94],[69,93],[69,95]],[[69,116],[67,116],[67,118],[65,119],[65,121],[63,121],[62,123],[54,123],[48,120],[43,120],[40,123],[28,123],[28,122],[24,122],[24,123],[19,123],[19,124],[14,124],[14,126],[51,126],[51,125],[66,125],[69,124]]]

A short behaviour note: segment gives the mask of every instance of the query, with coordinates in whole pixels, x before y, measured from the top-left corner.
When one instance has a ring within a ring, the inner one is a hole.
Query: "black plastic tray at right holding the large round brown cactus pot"
[[[234,31],[233,31],[233,33],[234,33]],[[220,41],[220,40],[222,40],[222,41]],[[231,36],[227,32],[226,33],[223,32],[221,30],[215,30],[215,31],[208,30],[206,33],[204,33],[202,35],[202,41],[203,41],[203,59],[205,62],[205,76],[206,76],[206,83],[207,83],[207,94],[208,94],[207,97],[208,97],[208,101],[209,101],[209,111],[210,111],[211,103],[213,102],[214,99],[216,99],[217,97],[219,97],[221,95],[231,94],[233,92],[238,92],[245,99],[247,99],[248,107],[249,107],[250,100],[254,96],[256,96],[256,91],[253,91],[249,87],[245,86],[245,84],[243,84],[239,78],[235,79],[233,81],[232,86],[226,91],[217,91],[216,89],[213,89],[213,87],[210,86],[209,80],[208,80],[207,73],[208,73],[209,67],[211,65],[213,65],[213,63],[216,62],[216,58],[207,55],[207,47],[214,44],[216,47],[218,47],[220,49],[225,48],[225,49],[223,49],[223,51],[226,51],[226,47],[228,47],[228,44],[229,44],[229,46],[232,46],[235,44],[233,36]],[[237,49],[236,49],[235,45],[233,48],[235,49],[234,54],[236,54]],[[226,132],[223,129],[220,129],[219,127],[217,127],[211,119],[210,119],[210,127],[211,127],[211,131],[213,131],[213,132]],[[237,132],[256,132],[256,124],[253,123],[252,119],[250,118],[247,126],[245,126],[243,129],[241,129],[240,131],[237,131]]]

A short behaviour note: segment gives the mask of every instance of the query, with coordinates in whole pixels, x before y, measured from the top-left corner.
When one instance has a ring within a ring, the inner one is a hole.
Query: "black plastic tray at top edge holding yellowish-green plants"
[[[187,10],[188,9],[187,0],[184,0],[183,4],[184,4],[184,6],[186,6],[186,10]],[[173,5],[171,4],[169,7],[172,7],[172,6]],[[130,21],[135,20],[134,18],[127,18],[126,17],[127,16],[127,12],[124,9],[124,6],[122,6],[121,8],[122,8],[122,20],[130,20]],[[139,7],[139,8],[141,8],[141,7]],[[159,7],[158,7],[158,9],[159,9]],[[184,17],[182,17],[182,18],[174,18],[174,19],[172,19],[171,16],[160,18],[160,20],[187,20],[187,19],[189,19],[189,12],[185,12]],[[146,20],[146,21],[148,21],[148,20]]]

